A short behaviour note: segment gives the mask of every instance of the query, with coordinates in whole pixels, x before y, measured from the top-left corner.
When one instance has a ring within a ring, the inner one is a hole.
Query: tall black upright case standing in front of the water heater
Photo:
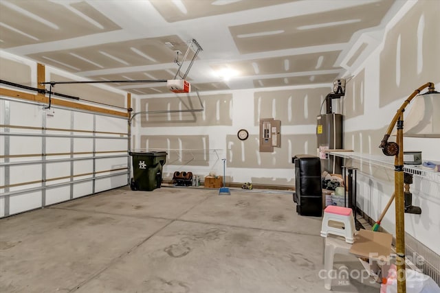
[[[322,216],[321,162],[318,156],[297,154],[295,163],[296,212],[300,215]]]

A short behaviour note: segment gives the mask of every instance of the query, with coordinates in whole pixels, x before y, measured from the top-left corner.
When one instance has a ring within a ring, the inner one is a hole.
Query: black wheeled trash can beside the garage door
[[[166,152],[129,152],[133,157],[131,190],[152,191],[162,183],[162,166]]]

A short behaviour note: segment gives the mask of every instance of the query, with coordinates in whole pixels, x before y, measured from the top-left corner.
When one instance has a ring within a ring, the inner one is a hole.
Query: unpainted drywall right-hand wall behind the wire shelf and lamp
[[[440,88],[439,14],[437,1],[406,3],[386,27],[382,44],[363,65],[349,73],[353,78],[347,83],[343,100],[345,148],[379,160],[388,159],[378,146],[396,110],[426,82],[434,82],[436,89]],[[409,109],[410,105],[406,113]],[[390,141],[394,139],[391,137]],[[439,149],[440,139],[404,138],[404,150],[421,151],[423,161],[440,163]],[[358,205],[377,220],[394,191],[393,169],[368,161],[346,163],[359,168]],[[405,230],[440,254],[440,176],[433,177],[414,176],[410,185],[412,204],[421,207],[422,213],[406,214]],[[394,204],[381,226],[395,233]]]

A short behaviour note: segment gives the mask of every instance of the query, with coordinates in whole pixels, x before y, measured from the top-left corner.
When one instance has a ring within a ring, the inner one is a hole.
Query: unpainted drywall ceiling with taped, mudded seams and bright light
[[[203,51],[187,80],[201,91],[331,84],[347,71],[342,60],[365,57],[371,44],[360,39],[383,30],[399,2],[0,0],[0,48],[90,80],[166,80],[195,39]]]

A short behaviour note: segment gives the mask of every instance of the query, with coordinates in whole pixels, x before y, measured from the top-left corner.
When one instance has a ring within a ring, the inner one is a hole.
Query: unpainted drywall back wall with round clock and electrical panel
[[[135,150],[168,152],[164,178],[175,171],[190,171],[202,178],[221,174],[226,159],[225,180],[293,187],[295,154],[316,154],[316,116],[329,85],[314,88],[296,86],[270,90],[201,92],[203,111],[193,113],[151,113],[200,109],[197,95],[170,94],[140,98],[133,121],[139,137]],[[259,152],[259,119],[281,120],[281,148]],[[139,124],[140,122],[140,124]],[[248,130],[245,141],[237,137]]]

